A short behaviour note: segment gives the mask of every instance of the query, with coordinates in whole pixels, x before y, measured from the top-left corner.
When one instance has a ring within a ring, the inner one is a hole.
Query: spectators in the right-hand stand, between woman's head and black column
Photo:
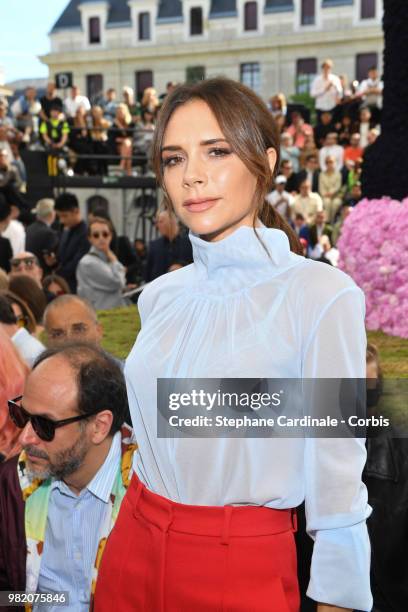
[[[344,219],[362,197],[364,153],[380,134],[383,83],[377,68],[345,85],[330,59],[311,85],[316,122],[288,112],[283,94],[270,109],[281,134],[281,165],[270,204],[296,229],[305,255],[337,265],[336,243]]]

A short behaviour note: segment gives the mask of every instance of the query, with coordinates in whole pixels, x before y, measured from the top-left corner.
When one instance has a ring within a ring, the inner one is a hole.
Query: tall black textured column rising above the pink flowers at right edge
[[[381,135],[369,146],[363,196],[408,196],[408,0],[384,0],[384,96]]]

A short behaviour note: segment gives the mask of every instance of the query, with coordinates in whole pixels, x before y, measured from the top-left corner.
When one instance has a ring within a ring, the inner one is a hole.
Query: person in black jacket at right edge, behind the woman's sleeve
[[[393,384],[395,381],[389,381]],[[371,384],[372,383],[372,384]],[[390,389],[384,398],[390,397]],[[383,381],[378,350],[367,346],[367,416],[379,417]],[[388,400],[390,401],[390,400]],[[389,416],[387,414],[386,416]],[[371,427],[363,482],[373,509],[367,521],[371,540],[373,612],[404,612],[408,605],[408,439]],[[395,436],[395,437],[394,437]]]

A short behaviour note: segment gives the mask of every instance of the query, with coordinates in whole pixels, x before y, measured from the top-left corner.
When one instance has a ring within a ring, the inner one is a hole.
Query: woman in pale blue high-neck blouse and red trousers
[[[142,329],[125,367],[139,451],[102,557],[97,612],[297,611],[303,500],[309,597],[319,612],[371,608],[362,440],[160,435],[158,379],[184,379],[183,389],[185,379],[364,377],[362,292],[299,256],[265,200],[278,150],[264,103],[228,79],[180,86],[160,111],[153,163],[190,229],[194,263],[139,299]]]

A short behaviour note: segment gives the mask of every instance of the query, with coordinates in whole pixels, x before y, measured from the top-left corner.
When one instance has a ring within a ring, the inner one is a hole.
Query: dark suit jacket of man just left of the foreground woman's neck
[[[173,263],[186,265],[192,261],[193,252],[187,235],[179,234],[172,241],[162,236],[149,245],[145,280],[149,282],[166,274]]]

